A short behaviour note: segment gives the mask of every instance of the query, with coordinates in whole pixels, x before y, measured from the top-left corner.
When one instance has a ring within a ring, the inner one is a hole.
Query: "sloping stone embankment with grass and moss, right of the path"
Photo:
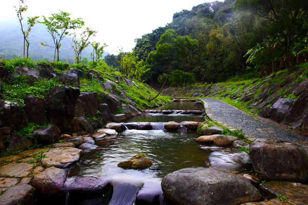
[[[308,132],[308,78],[302,72],[297,67],[254,81],[166,87],[162,93],[172,97],[226,98],[250,113]]]

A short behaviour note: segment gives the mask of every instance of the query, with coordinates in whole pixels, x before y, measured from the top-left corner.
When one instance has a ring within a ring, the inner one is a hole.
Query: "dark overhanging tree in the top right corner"
[[[295,42],[307,36],[307,6],[307,0],[237,0],[237,8],[252,11],[263,19],[263,38],[284,51],[284,56],[276,57],[283,57],[289,67],[293,65]]]

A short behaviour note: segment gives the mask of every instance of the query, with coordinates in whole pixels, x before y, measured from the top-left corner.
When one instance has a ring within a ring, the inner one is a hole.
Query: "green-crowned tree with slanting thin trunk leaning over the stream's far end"
[[[148,64],[162,64],[162,72],[167,73],[165,83],[155,97],[149,98],[151,101],[155,99],[164,88],[169,73],[177,64],[181,64],[182,60],[190,58],[192,51],[198,48],[198,42],[188,36],[177,35],[175,30],[168,29],[161,35],[159,42],[156,44],[156,50],[151,51],[147,57]]]

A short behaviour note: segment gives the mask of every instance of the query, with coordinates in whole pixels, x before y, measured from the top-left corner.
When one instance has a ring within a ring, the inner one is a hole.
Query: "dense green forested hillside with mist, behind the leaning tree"
[[[192,72],[197,81],[206,83],[265,76],[307,60],[307,11],[305,0],[204,3],[175,13],[170,24],[136,39],[133,52],[146,62],[161,35],[173,29],[196,39],[198,48],[184,60],[174,56],[171,75],[175,70]],[[143,79],[156,81],[167,73],[161,63],[147,63]]]

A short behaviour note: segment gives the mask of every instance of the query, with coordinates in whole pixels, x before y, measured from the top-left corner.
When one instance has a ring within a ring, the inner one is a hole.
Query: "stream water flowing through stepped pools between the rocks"
[[[176,102],[181,103],[183,102]],[[190,102],[185,102],[190,103]],[[187,106],[187,105],[185,105]],[[167,108],[169,109],[169,108]],[[177,109],[179,108],[179,104]],[[185,107],[185,109],[192,109]],[[184,109],[183,109],[184,110]],[[129,119],[129,122],[151,122],[156,130],[126,130],[117,136],[108,136],[95,145],[102,149],[88,151],[82,160],[68,168],[69,175],[82,176],[89,174],[104,174],[112,178],[114,195],[110,204],[129,204],[132,190],[138,190],[144,181],[159,182],[168,173],[188,167],[203,167],[210,151],[201,150],[201,145],[195,142],[196,131],[166,131],[162,130],[167,121],[204,121],[201,115],[184,114],[146,114]],[[137,153],[145,153],[153,165],[147,169],[123,169],[117,165]],[[123,194],[116,189],[125,189]],[[132,191],[136,193],[137,191]],[[118,196],[117,196],[118,193]],[[119,194],[121,193],[121,194]],[[122,201],[122,202],[119,202]]]

